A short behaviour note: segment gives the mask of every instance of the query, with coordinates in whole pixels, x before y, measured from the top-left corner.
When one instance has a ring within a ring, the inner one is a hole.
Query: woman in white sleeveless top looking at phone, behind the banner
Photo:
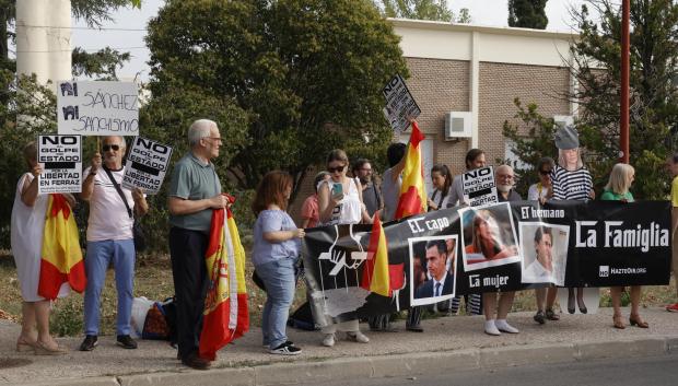
[[[318,188],[318,210],[320,224],[359,224],[371,223],[372,219],[362,203],[362,190],[355,179],[347,177],[349,157],[340,149],[332,150],[327,156],[327,172],[331,178],[323,182]],[[323,346],[335,346],[337,329],[346,331],[351,341],[367,343],[370,339],[359,329],[358,319],[330,324],[323,328]]]

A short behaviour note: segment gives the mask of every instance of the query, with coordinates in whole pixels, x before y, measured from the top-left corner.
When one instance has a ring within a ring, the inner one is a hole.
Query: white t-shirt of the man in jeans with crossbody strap
[[[110,171],[118,185],[122,183],[125,168]],[[90,167],[84,171],[90,175]],[[135,200],[129,189],[122,188],[129,208],[135,210]],[[102,242],[105,239],[132,238],[133,219],[127,214],[127,208],[118,195],[115,186],[108,178],[108,174],[101,167],[94,176],[94,190],[90,197],[90,219],[87,220],[87,242]]]

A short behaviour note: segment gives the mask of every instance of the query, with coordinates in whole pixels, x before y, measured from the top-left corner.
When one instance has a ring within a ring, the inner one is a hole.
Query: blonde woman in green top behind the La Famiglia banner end
[[[610,178],[605,186],[601,200],[633,202],[633,195],[629,191],[631,184],[635,178],[635,171],[633,166],[628,164],[616,164],[610,173]],[[612,316],[612,324],[615,328],[626,328],[623,319],[621,317],[621,292],[623,286],[610,288],[610,294],[612,296],[612,308],[615,314]],[[629,316],[629,323],[631,326],[638,326],[640,328],[647,328],[650,325],[644,321],[639,314],[639,304],[641,302],[641,286],[631,285],[631,315]]]

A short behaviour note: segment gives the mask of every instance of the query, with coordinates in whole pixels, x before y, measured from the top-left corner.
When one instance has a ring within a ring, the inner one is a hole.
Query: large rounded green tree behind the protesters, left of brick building
[[[227,166],[238,187],[273,168],[299,182],[334,148],[383,157],[393,133],[381,89],[408,74],[398,40],[367,0],[171,0],[149,23],[150,90],[191,87],[247,112],[247,141]]]

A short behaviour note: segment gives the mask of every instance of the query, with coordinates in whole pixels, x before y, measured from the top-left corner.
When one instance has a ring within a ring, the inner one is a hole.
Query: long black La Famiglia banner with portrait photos
[[[315,315],[343,320],[468,293],[669,281],[667,201],[502,202],[386,223],[390,297],[360,286],[371,229],[306,230],[302,254]]]

